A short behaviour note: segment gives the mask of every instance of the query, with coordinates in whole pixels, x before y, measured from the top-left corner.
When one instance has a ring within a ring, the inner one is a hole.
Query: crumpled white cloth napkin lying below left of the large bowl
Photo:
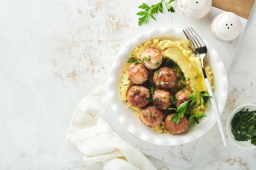
[[[86,165],[103,162],[104,170],[156,170],[139,150],[121,139],[101,116],[108,93],[98,88],[77,106],[67,139],[84,154]]]

